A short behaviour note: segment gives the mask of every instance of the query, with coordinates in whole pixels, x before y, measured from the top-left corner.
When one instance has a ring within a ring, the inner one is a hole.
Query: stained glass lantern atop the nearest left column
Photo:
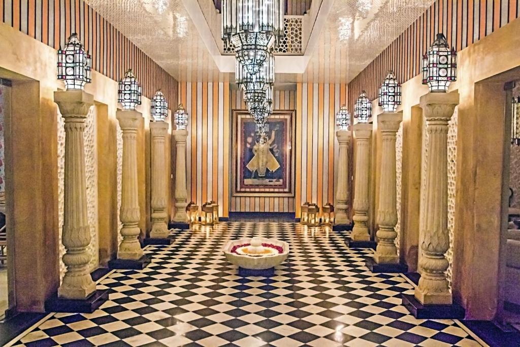
[[[58,50],[58,80],[65,81],[65,89],[83,89],[85,83],[90,83],[91,69],[92,57],[73,33],[65,49]]]

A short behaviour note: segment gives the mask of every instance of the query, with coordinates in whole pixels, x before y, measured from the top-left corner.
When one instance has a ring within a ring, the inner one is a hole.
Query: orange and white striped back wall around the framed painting
[[[305,201],[334,200],[337,160],[335,114],[347,101],[346,84],[297,83],[275,90],[275,110],[295,110],[295,196],[231,196],[231,113],[245,109],[242,92],[228,82],[180,82],[179,101],[188,112],[188,200],[215,200],[229,212],[295,212]]]

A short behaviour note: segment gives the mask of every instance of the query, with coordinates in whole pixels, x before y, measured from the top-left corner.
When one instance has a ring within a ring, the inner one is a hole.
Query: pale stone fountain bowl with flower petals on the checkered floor
[[[275,272],[275,266],[280,265],[289,255],[289,243],[274,239],[258,237],[262,243],[270,243],[271,245],[282,248],[282,253],[272,255],[247,255],[231,252],[233,247],[251,243],[253,238],[243,238],[240,240],[229,241],[224,247],[224,255],[226,260],[233,265],[238,266],[239,275],[241,276],[272,276]]]

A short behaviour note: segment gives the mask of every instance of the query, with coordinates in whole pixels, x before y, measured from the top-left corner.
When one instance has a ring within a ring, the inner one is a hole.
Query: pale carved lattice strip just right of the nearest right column
[[[453,236],[455,229],[455,177],[457,175],[457,125],[459,107],[453,111],[450,122],[448,123],[448,234],[450,237],[450,247],[446,252],[448,269],[446,277],[451,290],[451,275],[453,269]]]

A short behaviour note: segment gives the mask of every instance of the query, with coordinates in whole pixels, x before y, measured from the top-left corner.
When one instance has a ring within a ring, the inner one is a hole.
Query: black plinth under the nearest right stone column
[[[402,305],[417,319],[464,319],[464,308],[451,305],[423,305],[412,294],[401,294]]]

